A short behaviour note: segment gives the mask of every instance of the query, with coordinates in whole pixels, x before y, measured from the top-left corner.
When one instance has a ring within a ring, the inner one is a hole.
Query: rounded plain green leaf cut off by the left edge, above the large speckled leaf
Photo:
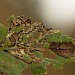
[[[8,30],[3,24],[0,24],[0,42],[2,42],[5,38],[6,35],[8,34]]]

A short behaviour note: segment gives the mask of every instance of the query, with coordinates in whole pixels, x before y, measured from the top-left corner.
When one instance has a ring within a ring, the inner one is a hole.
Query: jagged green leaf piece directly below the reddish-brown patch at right
[[[64,58],[61,56],[56,55],[55,59],[49,59],[50,64],[53,64],[54,69],[63,69],[63,65],[73,62],[75,60],[75,57],[70,58]]]

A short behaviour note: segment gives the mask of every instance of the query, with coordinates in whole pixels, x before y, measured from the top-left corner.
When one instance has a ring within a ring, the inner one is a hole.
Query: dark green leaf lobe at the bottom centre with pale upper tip
[[[49,65],[49,61],[44,59],[40,64],[31,64],[31,70],[34,75],[42,75],[47,74],[47,66]]]

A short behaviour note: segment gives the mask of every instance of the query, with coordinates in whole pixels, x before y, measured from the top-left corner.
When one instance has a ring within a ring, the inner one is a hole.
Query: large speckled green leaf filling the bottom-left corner
[[[8,75],[21,75],[28,65],[10,54],[0,51],[0,70]]]

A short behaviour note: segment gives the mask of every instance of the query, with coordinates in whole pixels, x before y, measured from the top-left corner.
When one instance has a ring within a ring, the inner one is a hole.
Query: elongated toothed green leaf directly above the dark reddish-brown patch
[[[46,39],[48,40],[48,42],[74,42],[74,39],[72,37],[63,35],[61,32],[47,35]]]

